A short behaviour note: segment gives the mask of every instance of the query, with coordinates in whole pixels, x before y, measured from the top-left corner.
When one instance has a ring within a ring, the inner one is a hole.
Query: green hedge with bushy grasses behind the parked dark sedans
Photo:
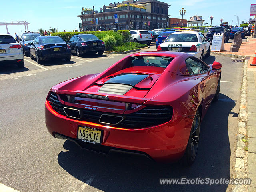
[[[52,35],[61,37],[65,42],[68,42],[70,38],[78,34],[92,34],[97,36],[100,40],[103,40],[106,44],[106,50],[111,50],[114,46],[120,46],[130,39],[129,31],[119,30],[113,31],[82,31],[82,32],[60,32],[52,33]],[[112,41],[111,41],[112,39]]]

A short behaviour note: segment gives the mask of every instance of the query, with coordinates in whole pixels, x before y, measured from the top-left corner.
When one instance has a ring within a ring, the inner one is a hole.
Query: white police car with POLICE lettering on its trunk
[[[170,34],[157,50],[187,52],[200,59],[211,54],[210,42],[197,30],[177,30]]]

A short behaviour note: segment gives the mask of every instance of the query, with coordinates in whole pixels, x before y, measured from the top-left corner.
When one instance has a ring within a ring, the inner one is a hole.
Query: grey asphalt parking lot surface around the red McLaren
[[[151,46],[154,47],[154,46]],[[124,56],[72,55],[71,61],[38,65],[25,57],[25,68],[0,66],[0,183],[26,192],[78,191],[228,191],[227,184],[160,185],[160,178],[230,178],[238,123],[243,63],[212,55],[222,63],[220,99],[201,125],[196,162],[156,164],[148,159],[102,156],[72,142],[53,138],[44,123],[44,102],[52,86],[85,74],[102,72]]]

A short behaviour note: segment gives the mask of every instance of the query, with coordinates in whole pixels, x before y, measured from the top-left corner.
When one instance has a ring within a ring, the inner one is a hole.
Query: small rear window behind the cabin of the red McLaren
[[[135,56],[131,57],[132,66],[153,66],[166,68],[173,58],[170,57],[158,57],[158,56]]]

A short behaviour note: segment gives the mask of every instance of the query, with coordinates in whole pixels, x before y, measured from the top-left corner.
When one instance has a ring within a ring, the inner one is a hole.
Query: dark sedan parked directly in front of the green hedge
[[[99,40],[95,35],[84,34],[74,35],[70,38],[68,44],[71,47],[71,52],[76,53],[78,57],[85,53],[96,53],[102,55],[105,48],[105,43]]]

